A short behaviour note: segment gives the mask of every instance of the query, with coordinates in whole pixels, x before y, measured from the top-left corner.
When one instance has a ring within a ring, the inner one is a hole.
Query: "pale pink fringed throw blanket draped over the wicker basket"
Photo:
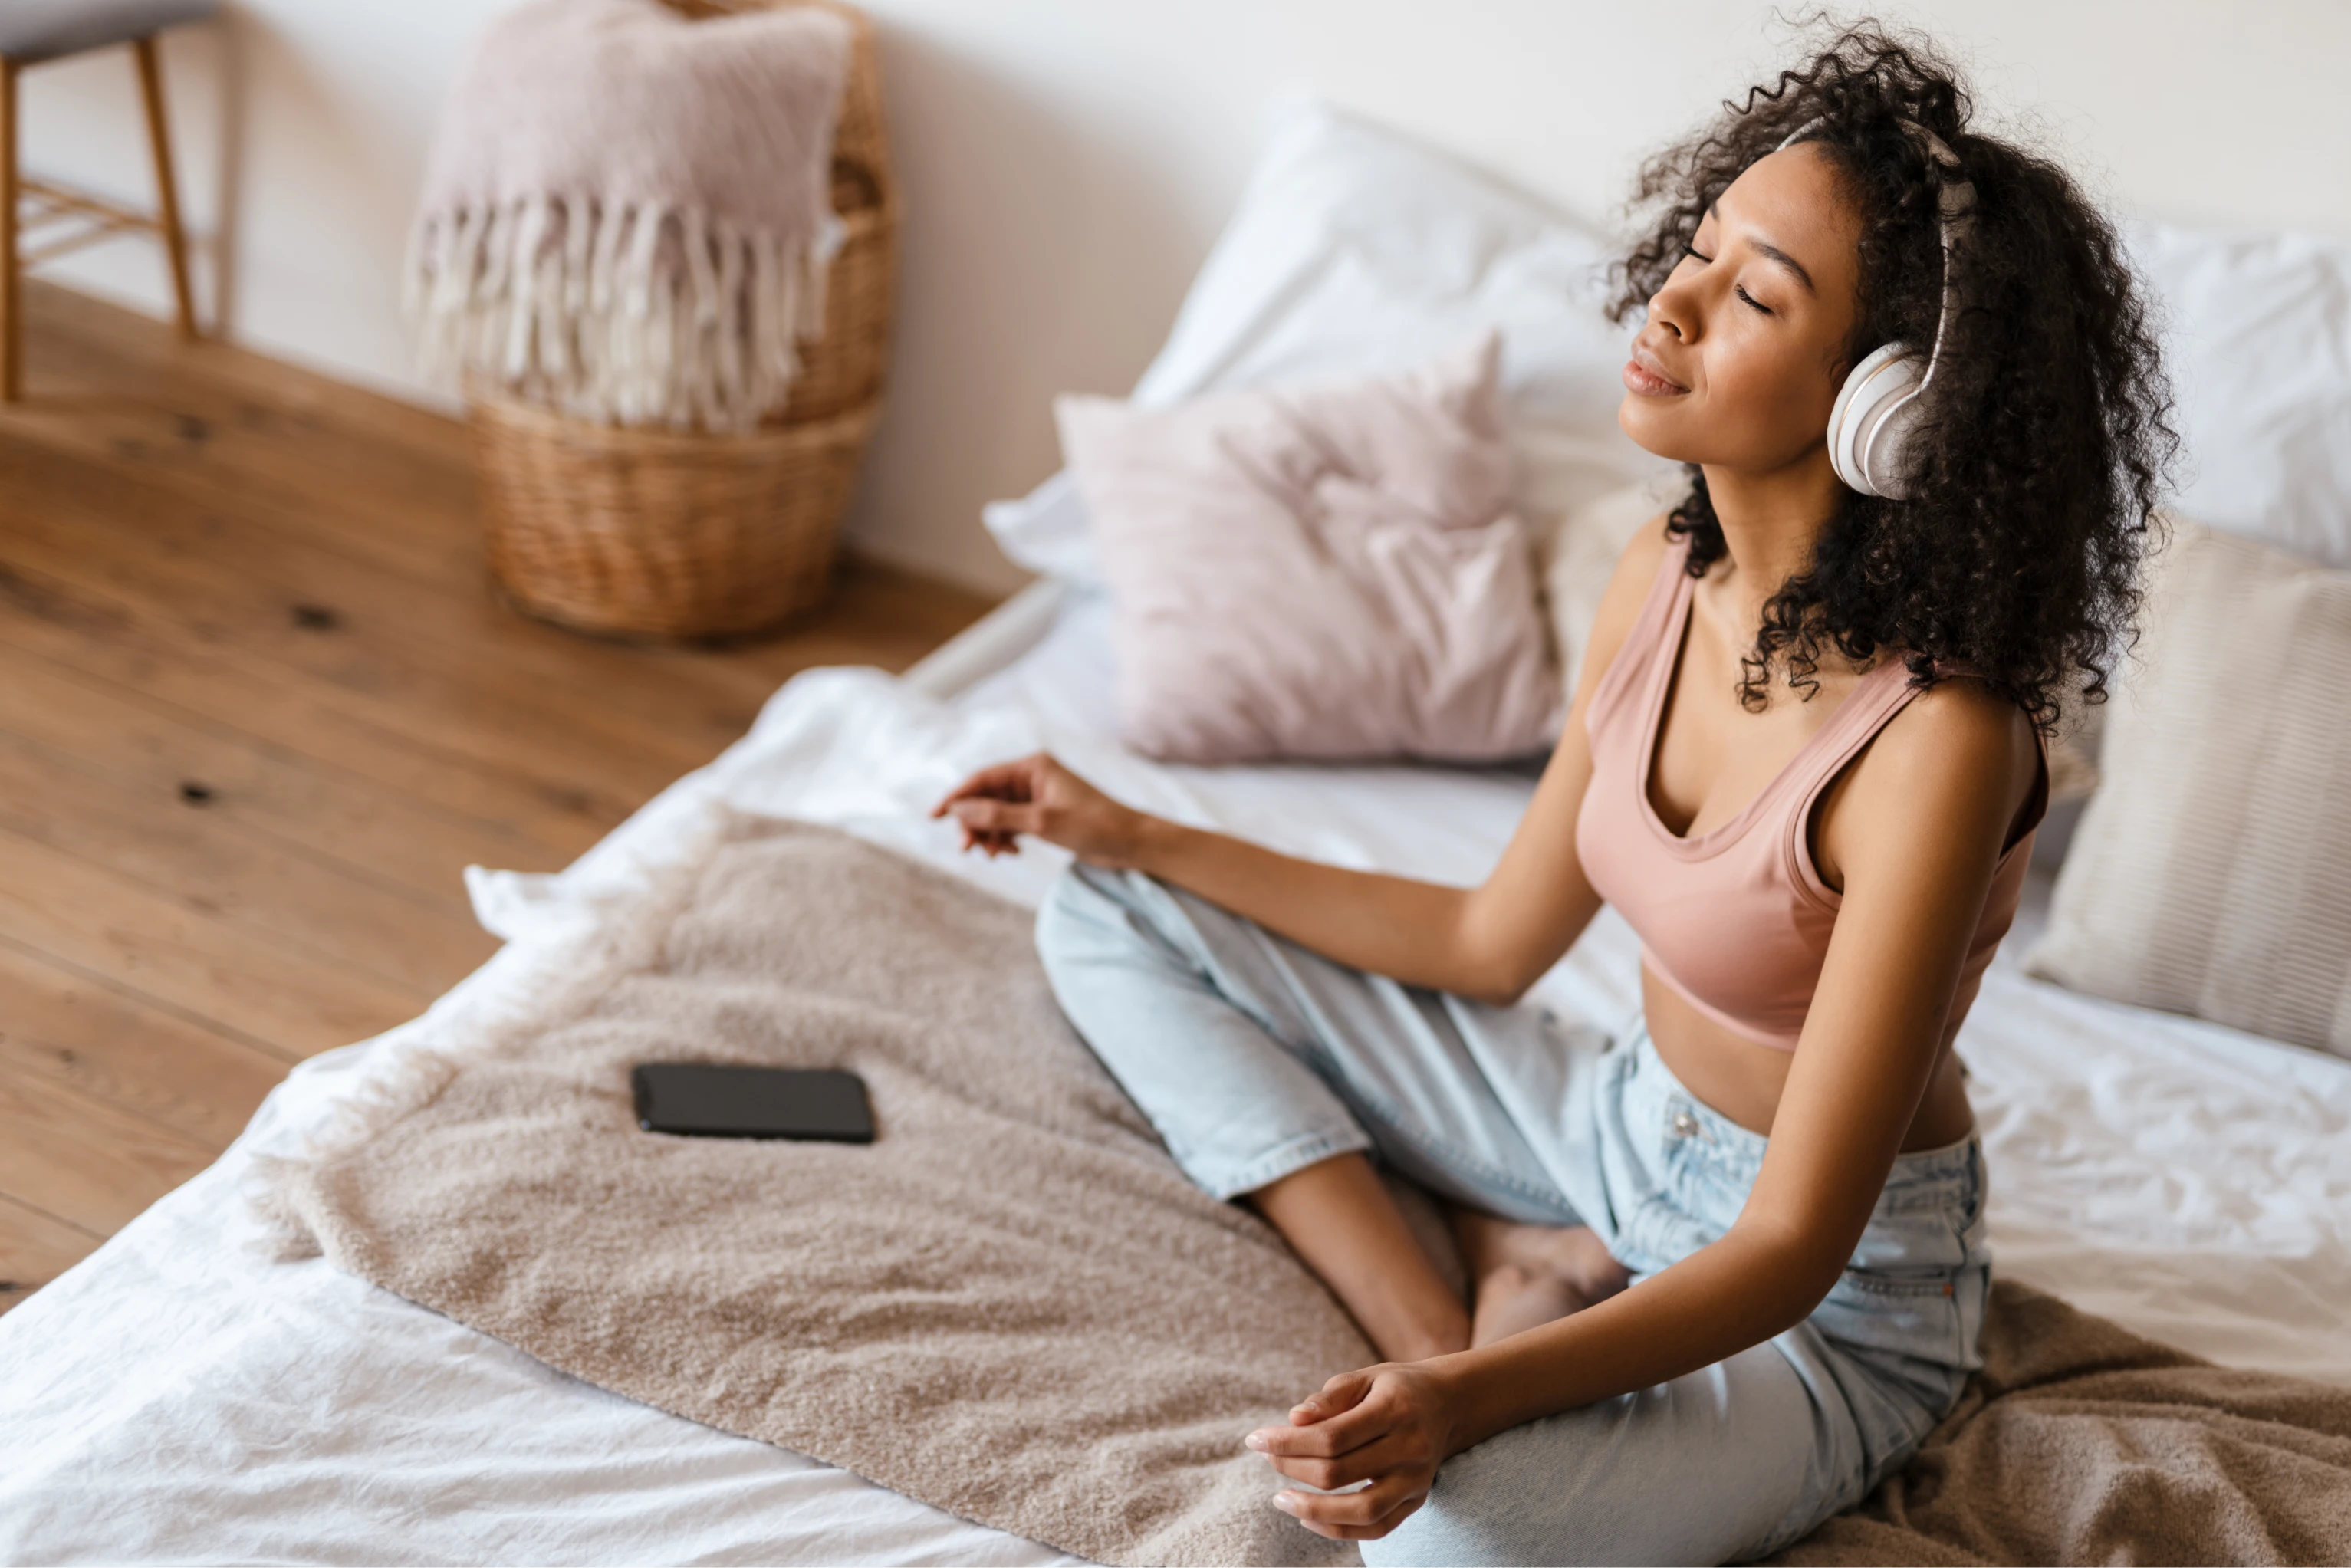
[[[581,418],[741,430],[823,329],[849,24],[531,0],[442,110],[407,299],[428,374]]]

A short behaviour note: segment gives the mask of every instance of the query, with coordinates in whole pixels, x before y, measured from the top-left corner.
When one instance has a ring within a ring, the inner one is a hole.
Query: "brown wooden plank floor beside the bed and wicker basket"
[[[463,428],[28,287],[0,409],[0,1312],[209,1164],[310,1053],[494,940],[465,863],[555,870],[820,663],[987,602],[851,564],[734,649],[491,602]]]

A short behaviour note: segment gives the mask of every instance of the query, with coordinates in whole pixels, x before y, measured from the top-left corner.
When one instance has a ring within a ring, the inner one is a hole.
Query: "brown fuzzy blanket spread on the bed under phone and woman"
[[[1105,1563],[1354,1556],[1265,1505],[1241,1434],[1371,1349],[1176,1171],[1060,1020],[1025,910],[736,820],[581,964],[277,1166],[289,1237],[564,1373]],[[663,1058],[851,1067],[882,1135],[642,1133],[628,1067]],[[1989,1352],[1928,1453],[1784,1561],[2344,1561],[2351,1392],[2017,1288]]]

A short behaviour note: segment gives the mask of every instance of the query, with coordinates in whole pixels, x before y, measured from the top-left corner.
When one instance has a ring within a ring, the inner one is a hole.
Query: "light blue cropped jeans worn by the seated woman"
[[[1641,1279],[1721,1237],[1763,1161],[1766,1140],[1690,1095],[1639,1018],[1610,1034],[1399,985],[1086,865],[1046,900],[1037,945],[1079,1034],[1215,1197],[1364,1150],[1439,1197],[1589,1225]],[[1364,1561],[1766,1556],[1857,1502],[1949,1413],[1982,1366],[1989,1284],[1982,1145],[1904,1154],[1813,1316],[1453,1455]]]

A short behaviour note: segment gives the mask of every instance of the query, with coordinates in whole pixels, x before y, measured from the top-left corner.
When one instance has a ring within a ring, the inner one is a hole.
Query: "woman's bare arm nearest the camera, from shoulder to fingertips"
[[[1763,1168],[1730,1232],[1542,1328],[1333,1378],[1295,1425],[1251,1441],[1310,1486],[1373,1486],[1298,1493],[1291,1512],[1324,1533],[1378,1533],[1425,1486],[1422,1458],[1434,1474],[1495,1432],[1712,1366],[1820,1305],[1935,1070],[1994,863],[2031,785],[2031,745],[2015,708],[1954,684],[1914,701],[1855,766],[1834,825],[1843,905]]]

